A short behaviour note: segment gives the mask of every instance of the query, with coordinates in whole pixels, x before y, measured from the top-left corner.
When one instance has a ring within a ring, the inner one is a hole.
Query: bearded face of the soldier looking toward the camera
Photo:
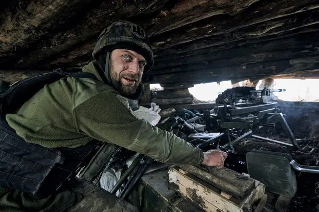
[[[145,58],[134,51],[113,50],[109,63],[110,83],[121,95],[134,95],[141,83],[146,64]]]

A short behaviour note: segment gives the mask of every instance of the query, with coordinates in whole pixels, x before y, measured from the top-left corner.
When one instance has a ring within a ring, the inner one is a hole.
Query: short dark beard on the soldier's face
[[[122,77],[129,77],[129,78],[133,78],[135,79],[135,83],[133,85],[123,85],[121,82]],[[109,73],[108,73],[108,78],[110,80],[110,84],[111,86],[118,91],[123,97],[130,97],[130,96],[134,96],[138,86],[141,83],[141,79],[139,79],[138,75],[134,75],[134,74],[130,74],[127,73],[123,76],[119,75],[119,79],[117,79],[117,74],[116,74],[116,70],[115,67],[112,63],[112,61],[110,60],[109,63]]]

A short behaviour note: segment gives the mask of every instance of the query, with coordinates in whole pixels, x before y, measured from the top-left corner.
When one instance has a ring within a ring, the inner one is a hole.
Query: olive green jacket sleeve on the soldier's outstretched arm
[[[199,165],[203,152],[176,135],[138,119],[115,91],[99,93],[74,108],[79,133],[171,164]]]

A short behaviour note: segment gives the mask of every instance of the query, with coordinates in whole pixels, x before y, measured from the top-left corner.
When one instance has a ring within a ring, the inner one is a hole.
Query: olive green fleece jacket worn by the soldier
[[[138,119],[127,100],[103,83],[93,62],[82,71],[97,80],[67,77],[46,85],[14,114],[6,114],[8,124],[27,142],[44,147],[78,147],[94,138],[163,163],[202,163],[199,148]],[[8,201],[7,193],[1,197],[0,190],[0,209],[6,204],[4,199]]]

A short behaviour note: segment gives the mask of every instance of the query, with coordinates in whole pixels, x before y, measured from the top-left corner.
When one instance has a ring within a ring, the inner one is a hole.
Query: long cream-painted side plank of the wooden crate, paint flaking
[[[251,207],[257,199],[257,191],[262,191],[263,185],[258,185],[245,199],[238,201],[234,198],[230,200],[219,195],[219,191],[191,174],[184,175],[176,168],[168,171],[168,181],[172,188],[180,192],[184,197],[189,198],[198,204],[205,211],[215,212],[244,212],[244,208]],[[265,187],[265,186],[264,186]],[[265,190],[264,190],[265,191]],[[262,197],[262,196],[261,196]],[[260,198],[261,198],[260,197]]]

